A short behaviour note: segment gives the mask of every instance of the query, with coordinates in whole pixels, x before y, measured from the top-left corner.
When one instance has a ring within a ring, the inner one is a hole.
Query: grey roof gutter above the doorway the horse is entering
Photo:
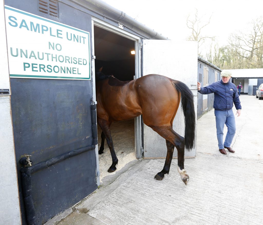
[[[102,10],[105,14],[107,14],[112,19],[123,23],[123,25],[131,26],[131,28],[136,27],[137,29],[147,33],[151,38],[158,39],[158,40],[169,40],[167,37],[162,36],[158,32],[152,30],[151,28],[143,25],[142,23],[138,22],[136,19],[128,16],[123,11],[120,11],[106,2],[100,0],[84,0],[85,2],[91,4],[92,6]]]

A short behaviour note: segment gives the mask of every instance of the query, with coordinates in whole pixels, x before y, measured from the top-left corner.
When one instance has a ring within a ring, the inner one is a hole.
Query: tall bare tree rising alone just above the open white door
[[[201,50],[200,50],[201,45],[208,38],[211,39],[211,40],[214,40],[214,37],[208,37],[208,36],[202,36],[201,35],[201,30],[205,26],[209,25],[212,15],[210,16],[209,21],[206,22],[206,23],[203,23],[201,21],[202,19],[198,17],[197,9],[196,9],[196,12],[195,12],[195,15],[194,15],[194,19],[191,20],[189,17],[190,17],[190,14],[188,15],[188,17],[186,19],[186,26],[192,31],[192,34],[191,34],[191,36],[189,36],[187,38],[187,40],[189,40],[189,41],[197,41],[197,43],[198,43],[198,55],[202,56],[201,55]]]

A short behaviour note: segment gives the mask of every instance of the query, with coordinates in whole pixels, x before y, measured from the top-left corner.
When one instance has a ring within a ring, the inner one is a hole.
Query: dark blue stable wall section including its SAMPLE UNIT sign
[[[53,0],[5,4],[22,222],[43,224],[98,187],[91,16]]]

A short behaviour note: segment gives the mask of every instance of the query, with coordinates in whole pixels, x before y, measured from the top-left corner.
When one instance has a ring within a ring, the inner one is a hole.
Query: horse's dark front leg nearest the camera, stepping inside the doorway
[[[100,128],[102,129],[102,132],[104,133],[104,136],[106,138],[107,144],[108,144],[109,149],[110,149],[110,154],[112,156],[112,165],[108,169],[108,172],[112,173],[117,169],[116,165],[118,164],[118,158],[116,156],[116,153],[115,153],[115,150],[113,147],[112,135],[110,134],[110,124],[111,123],[107,120],[100,119],[100,118],[98,118],[97,121],[98,121]]]

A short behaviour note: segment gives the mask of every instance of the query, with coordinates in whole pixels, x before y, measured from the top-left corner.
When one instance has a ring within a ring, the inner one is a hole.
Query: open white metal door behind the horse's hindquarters
[[[197,110],[197,43],[166,40],[143,40],[143,75],[160,74],[184,82],[193,92]],[[178,109],[173,122],[176,133],[184,136],[184,115]],[[165,158],[164,138],[144,125],[144,158]],[[196,148],[185,151],[186,157],[194,157]],[[177,151],[174,152],[177,157]]]

